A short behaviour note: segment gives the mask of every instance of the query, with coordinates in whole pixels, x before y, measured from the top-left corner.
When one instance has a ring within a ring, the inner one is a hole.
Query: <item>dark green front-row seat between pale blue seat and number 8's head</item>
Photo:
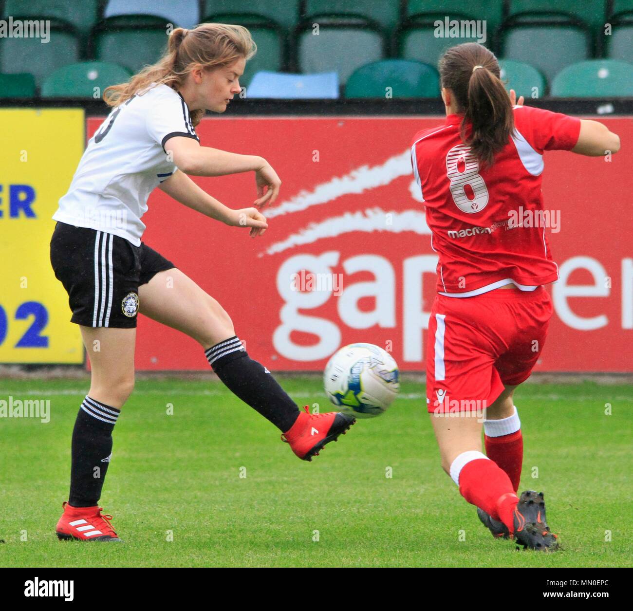
[[[391,87],[387,90],[387,87]],[[374,61],[354,70],[346,98],[439,98],[436,68],[413,60]]]

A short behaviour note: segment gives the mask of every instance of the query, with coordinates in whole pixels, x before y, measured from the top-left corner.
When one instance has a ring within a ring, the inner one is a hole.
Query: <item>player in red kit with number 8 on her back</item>
[[[543,494],[517,496],[523,440],[513,393],[541,355],[552,314],[542,285],[558,267],[542,223],[515,220],[542,218],[543,151],[600,156],[616,153],[620,139],[601,123],[515,104],[480,44],[452,47],[439,68],[446,122],[411,144],[439,256],[427,408],[442,468],[492,534],[554,550]]]

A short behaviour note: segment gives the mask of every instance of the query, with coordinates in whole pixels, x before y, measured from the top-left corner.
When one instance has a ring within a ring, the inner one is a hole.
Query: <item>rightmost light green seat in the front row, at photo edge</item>
[[[633,96],[633,64],[587,60],[567,66],[551,85],[553,98],[621,98]]]

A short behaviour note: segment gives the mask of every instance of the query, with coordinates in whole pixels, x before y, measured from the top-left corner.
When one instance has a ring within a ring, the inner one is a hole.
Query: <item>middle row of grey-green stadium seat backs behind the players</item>
[[[244,17],[258,45],[258,53],[249,61],[242,82],[249,84],[255,72],[290,71],[318,73],[335,70],[344,84],[356,68],[369,61],[387,56],[384,35],[366,25],[338,18],[322,18],[318,35],[312,27],[301,30],[296,37],[296,48],[288,56],[282,34],[273,26],[260,21],[258,16]],[[427,27],[428,26],[428,27]],[[441,53],[454,44],[473,41],[473,37],[436,37],[432,25],[418,23],[401,32],[399,58],[436,65]],[[51,23],[51,39],[40,44],[39,39],[0,39],[0,72],[30,72],[41,86],[44,79],[61,66],[77,63],[82,56],[97,61],[115,63],[137,72],[153,63],[165,47],[166,28],[162,18],[149,15],[118,16],[97,24],[92,30],[89,51],[81,51],[77,34],[63,23]],[[487,43],[485,43],[488,46]],[[538,48],[539,53],[532,53]],[[633,62],[633,20],[630,25],[613,28],[608,58]],[[566,66],[592,57],[586,32],[569,23],[539,23],[510,28],[497,49],[507,60],[531,63],[551,82]]]

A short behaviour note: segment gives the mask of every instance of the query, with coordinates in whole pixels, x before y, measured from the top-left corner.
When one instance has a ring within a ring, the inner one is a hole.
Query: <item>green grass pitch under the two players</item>
[[[278,379],[300,405],[330,410],[318,377]],[[0,380],[0,398],[51,401],[47,424],[0,419],[3,567],[613,567],[633,557],[629,386],[527,384],[515,393],[521,489],[546,493],[564,546],[555,554],[518,552],[481,526],[439,466],[424,388],[412,381],[385,415],[360,420],[311,463],[214,379],[137,381],[100,502],[125,545],[58,541],[72,426],[88,387]]]

